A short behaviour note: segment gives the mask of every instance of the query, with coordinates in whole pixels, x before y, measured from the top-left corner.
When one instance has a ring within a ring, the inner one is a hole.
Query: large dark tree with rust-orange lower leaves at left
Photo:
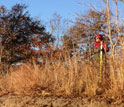
[[[0,63],[2,68],[39,58],[54,42],[41,21],[31,18],[26,6],[0,7]],[[36,51],[36,50],[39,51]],[[3,67],[5,66],[5,67]]]

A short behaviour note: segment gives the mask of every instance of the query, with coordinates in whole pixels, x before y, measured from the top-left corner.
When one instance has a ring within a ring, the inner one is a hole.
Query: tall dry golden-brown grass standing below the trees
[[[63,61],[22,64],[10,68],[0,79],[0,89],[15,94],[122,97],[124,94],[124,62],[108,60],[108,68],[100,76],[99,69],[77,57]]]

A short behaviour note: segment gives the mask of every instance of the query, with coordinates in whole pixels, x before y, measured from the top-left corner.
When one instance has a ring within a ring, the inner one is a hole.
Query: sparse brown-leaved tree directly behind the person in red
[[[94,55],[94,36],[104,34],[107,42],[107,20],[105,11],[90,9],[86,14],[77,14],[76,22],[63,37],[63,46],[72,54],[80,54],[91,59]],[[72,50],[72,51],[71,51]]]

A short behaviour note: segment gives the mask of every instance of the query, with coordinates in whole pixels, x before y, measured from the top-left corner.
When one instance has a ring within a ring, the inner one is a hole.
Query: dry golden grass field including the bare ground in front
[[[77,57],[43,66],[11,67],[0,78],[1,107],[123,107],[123,59],[108,60],[99,72]]]

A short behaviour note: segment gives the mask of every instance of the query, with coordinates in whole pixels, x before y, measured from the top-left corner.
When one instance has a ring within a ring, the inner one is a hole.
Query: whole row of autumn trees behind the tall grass
[[[105,9],[99,11],[91,8],[86,13],[77,14],[76,21],[70,27],[67,27],[67,20],[54,14],[49,21],[50,32],[46,31],[40,20],[30,16],[24,4],[16,4],[9,10],[1,6],[1,68],[5,70],[13,64],[26,63],[32,59],[37,63],[45,63],[51,57],[63,57],[63,53],[68,53],[69,57],[78,54],[90,58],[96,34],[103,34],[111,47],[113,58],[118,53],[121,55],[124,48],[124,26],[123,21],[119,21],[118,0],[113,2],[116,7],[115,14],[110,10],[109,0],[104,0]]]

